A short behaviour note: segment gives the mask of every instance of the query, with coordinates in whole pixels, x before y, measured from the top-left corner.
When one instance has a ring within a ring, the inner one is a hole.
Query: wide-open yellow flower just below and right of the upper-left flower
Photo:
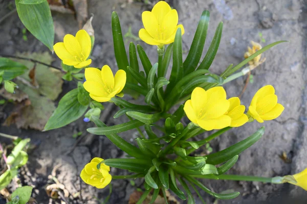
[[[126,84],[126,72],[117,71],[115,77],[108,65],[104,65],[101,69],[86,68],[83,86],[90,97],[98,102],[106,102],[118,95]]]

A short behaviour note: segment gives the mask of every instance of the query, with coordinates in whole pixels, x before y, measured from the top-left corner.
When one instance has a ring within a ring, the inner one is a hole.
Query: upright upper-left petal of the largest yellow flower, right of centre
[[[202,115],[207,103],[206,90],[201,87],[194,88],[191,94],[191,103],[196,116],[199,118]]]

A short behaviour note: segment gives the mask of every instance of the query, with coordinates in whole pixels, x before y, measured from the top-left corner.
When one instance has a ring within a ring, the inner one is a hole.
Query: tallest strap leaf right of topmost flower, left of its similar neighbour
[[[209,11],[204,11],[196,29],[189,54],[183,63],[185,74],[193,72],[200,62],[206,41],[209,19]]]

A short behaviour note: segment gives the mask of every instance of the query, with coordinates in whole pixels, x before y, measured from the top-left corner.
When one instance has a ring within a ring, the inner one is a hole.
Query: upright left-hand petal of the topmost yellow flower
[[[155,39],[160,39],[158,21],[150,11],[144,11],[142,13],[142,21],[145,30],[149,35]]]

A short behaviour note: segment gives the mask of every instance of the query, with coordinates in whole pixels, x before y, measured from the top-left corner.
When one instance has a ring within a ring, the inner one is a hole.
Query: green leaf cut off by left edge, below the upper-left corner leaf
[[[22,75],[28,70],[27,66],[19,62],[12,61],[5,57],[0,57],[0,72],[3,80],[12,80],[15,77]]]

